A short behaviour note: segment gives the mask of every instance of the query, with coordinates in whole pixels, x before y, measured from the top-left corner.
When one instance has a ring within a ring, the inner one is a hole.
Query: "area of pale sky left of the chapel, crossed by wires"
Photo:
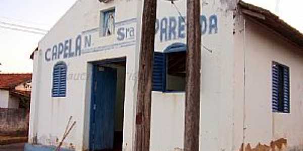
[[[76,0],[0,0],[0,22],[49,30],[75,2]],[[1,27],[13,26],[0,23],[0,71],[32,72],[33,62],[29,56],[43,35]]]

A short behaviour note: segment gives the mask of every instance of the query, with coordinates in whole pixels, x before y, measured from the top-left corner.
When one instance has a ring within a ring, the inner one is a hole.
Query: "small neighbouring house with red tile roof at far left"
[[[31,73],[1,73],[0,108],[28,108],[31,79]]]

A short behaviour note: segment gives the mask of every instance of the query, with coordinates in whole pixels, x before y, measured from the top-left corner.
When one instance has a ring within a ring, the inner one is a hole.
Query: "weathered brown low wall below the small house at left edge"
[[[29,110],[0,108],[0,135],[27,136]]]

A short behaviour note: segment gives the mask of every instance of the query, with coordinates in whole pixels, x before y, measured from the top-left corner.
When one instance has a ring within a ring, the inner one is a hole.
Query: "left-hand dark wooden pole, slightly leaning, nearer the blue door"
[[[138,73],[135,151],[148,151],[157,0],[144,0]]]

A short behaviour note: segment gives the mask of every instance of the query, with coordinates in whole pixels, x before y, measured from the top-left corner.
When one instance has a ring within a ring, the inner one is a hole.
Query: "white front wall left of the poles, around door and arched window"
[[[94,53],[82,53],[79,57],[66,58],[68,64],[68,77],[83,75],[80,79],[69,79],[67,82],[67,96],[64,98],[52,98],[52,72],[53,66],[58,61],[45,61],[44,53],[47,48],[66,39],[75,40],[82,31],[99,27],[99,11],[116,7],[116,22],[137,18],[140,1],[114,1],[110,4],[100,4],[98,1],[77,1],[65,14],[55,27],[40,41],[39,52],[35,53],[33,80],[33,97],[31,106],[30,136],[33,142],[37,138],[38,143],[45,145],[57,145],[56,139],[61,140],[70,116],[76,121],[76,125],[65,140],[64,147],[76,148],[76,150],[88,147],[89,133],[89,101],[90,101],[90,69],[89,61],[105,58],[127,57],[126,72],[132,78],[126,79],[124,110],[124,143],[126,150],[132,150],[134,140],[134,117],[136,87],[136,64],[134,59],[138,53],[136,45],[120,47],[115,50],[103,50]],[[140,4],[141,7],[141,4]],[[134,8],[134,9],[129,9]],[[135,33],[139,21],[126,26],[134,27]],[[118,42],[116,35],[99,37],[98,32],[91,33],[92,47],[104,46]],[[134,39],[136,41],[136,39]],[[82,43],[83,44],[83,43]],[[83,44],[84,45],[84,44]],[[74,49],[74,48],[73,48]],[[83,50],[84,52],[84,50]],[[63,60],[63,59],[62,59]],[[35,70],[36,69],[36,70]],[[84,114],[85,113],[85,114]]]

